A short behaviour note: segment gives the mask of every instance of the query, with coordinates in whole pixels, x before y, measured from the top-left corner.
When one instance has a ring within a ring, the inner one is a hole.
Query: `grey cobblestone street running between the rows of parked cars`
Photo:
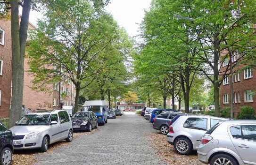
[[[108,119],[92,135],[39,154],[36,165],[166,165],[151,146],[151,124],[134,113]]]

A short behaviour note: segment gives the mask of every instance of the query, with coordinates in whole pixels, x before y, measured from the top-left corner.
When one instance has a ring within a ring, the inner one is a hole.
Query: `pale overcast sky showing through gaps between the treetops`
[[[107,6],[107,12],[111,13],[121,27],[124,27],[130,37],[139,34],[139,25],[144,17],[144,10],[148,10],[151,0],[111,0]],[[30,22],[37,24],[41,14],[32,11]]]

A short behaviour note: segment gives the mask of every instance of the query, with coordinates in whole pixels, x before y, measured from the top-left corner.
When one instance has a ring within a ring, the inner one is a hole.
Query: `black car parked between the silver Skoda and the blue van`
[[[72,116],[72,125],[74,131],[89,131],[92,128],[98,128],[98,119],[93,112],[77,112]]]

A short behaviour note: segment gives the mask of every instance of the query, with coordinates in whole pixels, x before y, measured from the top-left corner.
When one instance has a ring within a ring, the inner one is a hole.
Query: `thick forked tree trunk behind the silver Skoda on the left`
[[[12,98],[9,127],[20,119],[23,105],[24,57],[31,0],[25,0],[19,24],[19,0],[11,0]]]

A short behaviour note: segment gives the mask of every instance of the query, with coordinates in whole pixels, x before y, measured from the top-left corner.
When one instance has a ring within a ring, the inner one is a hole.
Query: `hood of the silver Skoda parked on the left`
[[[33,132],[43,132],[47,130],[49,126],[14,126],[10,128],[14,135],[28,135]]]

